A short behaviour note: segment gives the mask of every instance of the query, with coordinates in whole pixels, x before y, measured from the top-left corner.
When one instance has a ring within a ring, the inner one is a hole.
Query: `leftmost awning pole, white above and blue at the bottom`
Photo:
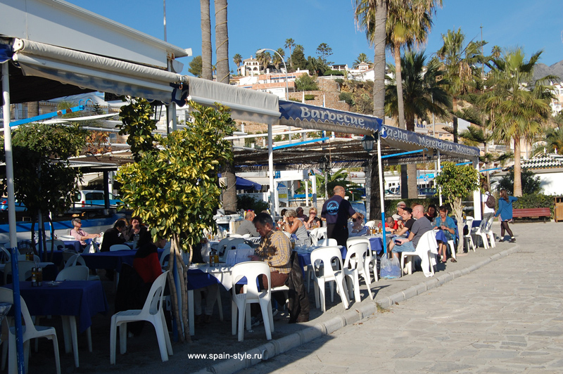
[[[8,187],[8,224],[10,226],[11,258],[18,258],[18,238],[15,235],[15,199],[13,188],[12,131],[10,129],[10,81],[8,63],[2,64],[2,97],[4,98],[4,151],[6,153],[6,185]],[[12,261],[12,278],[19,279],[18,262]],[[24,374],[22,308],[20,283],[13,282],[13,313],[15,319],[15,348],[18,352],[18,373]]]

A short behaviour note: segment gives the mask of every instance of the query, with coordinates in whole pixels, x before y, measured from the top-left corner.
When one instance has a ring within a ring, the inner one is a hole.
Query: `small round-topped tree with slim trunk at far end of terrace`
[[[449,202],[457,219],[457,232],[463,233],[462,200],[472,195],[481,186],[479,172],[472,165],[457,166],[453,162],[443,162],[440,174],[434,179],[441,188],[446,202]],[[457,250],[463,252],[463,240],[457,242]]]

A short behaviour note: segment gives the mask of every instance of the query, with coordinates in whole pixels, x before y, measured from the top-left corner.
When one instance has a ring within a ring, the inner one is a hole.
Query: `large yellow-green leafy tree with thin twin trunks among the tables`
[[[213,208],[220,205],[221,195],[217,173],[233,157],[224,137],[234,131],[234,121],[223,105],[215,103],[217,110],[189,105],[194,108],[194,123],[166,137],[156,135],[158,148],[139,153],[139,161],[121,167],[117,175],[123,201],[148,225],[153,240],[170,238],[170,252],[180,265],[180,290],[172,274],[169,278],[172,300],[181,292],[184,306],[189,263],[184,264],[181,251],[190,251],[191,262],[191,248],[199,243],[203,230],[215,228]],[[170,270],[174,263],[171,259]],[[177,302],[173,304],[176,321],[183,321],[186,329],[177,324],[180,340],[189,340],[186,308],[179,311]]]

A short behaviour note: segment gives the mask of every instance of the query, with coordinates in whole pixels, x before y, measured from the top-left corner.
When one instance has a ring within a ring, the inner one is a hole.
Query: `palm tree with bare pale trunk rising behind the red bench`
[[[542,124],[550,116],[552,87],[543,82],[548,76],[532,82],[533,67],[541,56],[534,53],[524,60],[524,51],[514,49],[502,58],[491,60],[491,73],[485,105],[491,112],[491,131],[496,141],[510,145],[514,142],[514,195],[522,195],[520,147],[521,141],[531,142],[540,134]]]

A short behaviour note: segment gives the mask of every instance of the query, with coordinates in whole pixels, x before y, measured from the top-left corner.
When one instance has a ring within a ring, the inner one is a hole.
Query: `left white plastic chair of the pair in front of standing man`
[[[331,264],[336,262],[336,269]],[[344,310],[348,309],[348,289],[344,286],[344,273],[342,271],[342,254],[338,247],[322,247],[311,252],[311,266],[314,269],[313,279],[315,280],[315,304],[321,311],[326,311],[324,297],[324,283],[334,281],[339,295],[342,299]],[[321,273],[322,272],[322,273]],[[332,290],[332,288],[331,288]],[[334,292],[330,295],[331,302],[334,302]]]

